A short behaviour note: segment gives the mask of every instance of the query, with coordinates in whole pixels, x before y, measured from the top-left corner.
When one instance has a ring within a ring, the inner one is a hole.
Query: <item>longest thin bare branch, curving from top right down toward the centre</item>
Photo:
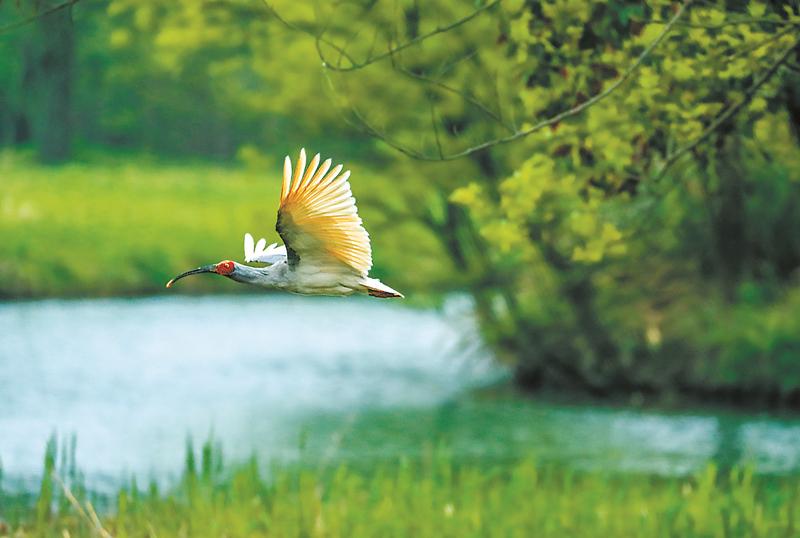
[[[644,60],[648,56],[650,56],[653,50],[655,50],[655,48],[664,40],[664,38],[670,33],[670,31],[672,31],[675,24],[683,16],[683,14],[686,12],[687,8],[692,4],[693,1],[694,0],[687,0],[680,6],[680,8],[672,17],[672,19],[670,19],[670,22],[664,26],[664,29],[661,31],[661,33],[644,48],[644,50],[641,52],[641,54],[639,54],[636,60],[622,73],[622,75],[620,75],[620,77],[617,80],[615,80],[605,90],[595,94],[593,97],[587,99],[583,103],[573,108],[570,108],[569,110],[565,110],[564,112],[556,114],[555,116],[552,116],[546,120],[540,121],[539,123],[531,127],[528,127],[527,129],[517,130],[508,136],[487,140],[485,142],[482,142],[475,146],[471,146],[462,151],[445,154],[443,156],[437,157],[437,156],[427,155],[421,151],[412,148],[405,147],[402,144],[393,141],[386,136],[381,135],[380,132],[374,126],[372,126],[369,123],[369,121],[366,118],[364,118],[364,116],[355,107],[352,107],[354,116],[362,123],[362,128],[365,131],[367,131],[368,134],[380,138],[385,144],[391,146],[397,151],[400,151],[401,153],[404,153],[405,155],[425,161],[438,161],[438,160],[451,161],[455,159],[460,159],[462,157],[467,157],[469,155],[472,155],[480,151],[484,151],[494,146],[507,144],[509,142],[525,138],[526,136],[529,136],[537,131],[541,131],[542,129],[555,125],[567,118],[580,114],[584,110],[596,105],[597,103],[599,103],[600,101],[602,101],[603,99],[607,98],[609,95],[614,93],[614,91],[616,91],[620,86],[622,86],[622,84],[625,83],[625,81],[627,81],[631,77],[631,75],[633,75],[636,72],[636,70],[639,68],[639,66],[641,66]]]

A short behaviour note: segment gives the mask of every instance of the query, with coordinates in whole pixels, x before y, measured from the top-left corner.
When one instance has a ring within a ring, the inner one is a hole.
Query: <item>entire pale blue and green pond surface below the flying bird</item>
[[[800,417],[556,405],[476,390],[507,377],[453,299],[285,295],[0,304],[0,461],[35,488],[47,439],[90,485],[170,480],[185,442],[226,458],[368,461],[444,443],[580,468],[687,473],[714,459],[800,470]]]

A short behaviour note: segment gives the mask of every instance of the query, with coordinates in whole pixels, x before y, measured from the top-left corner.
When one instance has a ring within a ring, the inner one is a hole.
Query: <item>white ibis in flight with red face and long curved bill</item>
[[[331,164],[331,159],[320,164],[318,153],[306,167],[306,152],[301,149],[292,173],[292,161],[286,157],[275,225],[284,244],[267,247],[265,239],[256,243],[249,233],[244,236],[245,261],[266,266],[223,260],[186,271],[167,282],[167,287],[189,275],[216,273],[236,282],[304,295],[403,297],[369,277],[372,248],[350,192],[350,171],[341,174],[342,165],[331,169]]]

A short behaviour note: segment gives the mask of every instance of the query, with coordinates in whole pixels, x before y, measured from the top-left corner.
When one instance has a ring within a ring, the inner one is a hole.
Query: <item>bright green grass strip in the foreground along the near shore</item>
[[[52,470],[53,445],[48,454],[46,469]],[[796,477],[723,473],[713,466],[688,478],[615,476],[530,460],[458,463],[446,452],[430,451],[414,462],[284,467],[268,474],[255,461],[226,470],[219,453],[206,445],[198,463],[193,454],[187,458],[178,486],[163,492],[156,486],[123,488],[99,525],[116,537],[161,538],[788,537],[800,532]],[[85,499],[79,473],[73,468],[65,475]],[[6,528],[9,536],[96,535],[88,502],[82,501],[79,513],[53,480],[43,481],[27,508],[19,506]]]

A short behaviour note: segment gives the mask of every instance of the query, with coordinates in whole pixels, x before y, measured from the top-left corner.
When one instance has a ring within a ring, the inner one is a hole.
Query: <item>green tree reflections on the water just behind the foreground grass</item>
[[[361,411],[307,423],[307,451],[358,461],[443,443],[469,459],[533,456],[581,469],[686,474],[714,460],[762,473],[800,471],[800,420],[729,412],[658,413],[465,396],[434,408]],[[332,448],[333,447],[333,448]]]

